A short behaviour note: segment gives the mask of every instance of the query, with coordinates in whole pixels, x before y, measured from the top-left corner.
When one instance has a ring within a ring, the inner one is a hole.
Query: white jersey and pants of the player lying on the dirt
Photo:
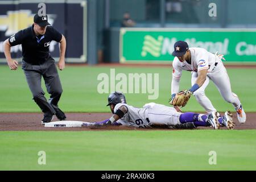
[[[114,112],[121,106],[126,106],[128,111],[117,123],[131,127],[152,127],[152,126],[174,126],[180,124],[181,113],[174,107],[155,104],[154,102],[145,104],[142,108],[133,107],[119,103],[115,105]]]

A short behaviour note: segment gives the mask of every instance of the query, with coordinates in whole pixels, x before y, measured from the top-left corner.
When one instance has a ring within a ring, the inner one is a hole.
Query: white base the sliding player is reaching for
[[[88,122],[84,121],[54,121],[44,125],[44,127],[82,127]]]

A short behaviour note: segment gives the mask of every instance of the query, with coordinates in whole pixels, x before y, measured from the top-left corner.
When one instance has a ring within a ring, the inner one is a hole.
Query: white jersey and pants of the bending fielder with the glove
[[[197,72],[203,69],[208,69],[207,79],[205,80],[204,84],[193,93],[197,102],[204,107],[207,113],[216,111],[212,105],[212,102],[210,102],[209,98],[205,96],[204,91],[209,84],[209,80],[212,80],[217,86],[224,100],[232,103],[237,109],[237,107],[241,105],[241,102],[237,95],[232,93],[229,76],[220,57],[208,52],[204,48],[193,47],[189,48],[189,51],[191,52],[191,64],[188,64],[187,61],[180,62],[177,57],[175,57],[174,61],[172,62],[172,67],[174,69],[172,71],[171,93],[174,94],[179,92],[179,80],[183,70],[192,72],[191,84],[194,85],[198,77]]]

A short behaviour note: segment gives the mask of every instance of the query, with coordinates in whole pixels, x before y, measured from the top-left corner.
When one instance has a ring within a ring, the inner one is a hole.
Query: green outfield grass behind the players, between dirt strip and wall
[[[171,88],[170,68],[130,68],[117,67],[117,73],[159,73],[159,97],[157,100],[148,100],[148,94],[127,93],[128,104],[141,107],[147,102],[156,102],[168,105]],[[100,94],[97,86],[101,82],[97,80],[100,73],[107,73],[110,76],[110,67],[67,67],[64,71],[59,71],[63,85],[63,96],[59,106],[64,111],[79,112],[108,112],[106,107],[108,93]],[[254,84],[256,77],[255,69],[228,69],[233,92],[236,93],[242,101],[244,109],[256,111],[256,98],[251,97],[256,92]],[[38,106],[32,100],[30,90],[28,89],[26,78],[19,67],[18,71],[10,71],[6,65],[0,66],[0,113],[1,112],[39,112]],[[115,81],[117,83],[118,81]],[[180,89],[191,87],[191,73],[183,72]],[[43,85],[46,92],[45,86]],[[110,91],[110,90],[109,90]],[[233,110],[233,106],[223,100],[216,86],[212,82],[206,89],[206,94],[212,101],[218,111]],[[46,94],[48,98],[48,94]],[[204,111],[191,97],[183,111]]]

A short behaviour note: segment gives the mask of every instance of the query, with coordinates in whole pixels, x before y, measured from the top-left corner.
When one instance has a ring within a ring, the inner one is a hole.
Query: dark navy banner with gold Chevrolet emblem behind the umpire
[[[43,1],[48,22],[67,40],[65,61],[86,61],[86,1]],[[0,1],[0,62],[6,63],[3,42],[19,30],[32,26],[39,1]],[[52,57],[59,57],[59,43],[49,46]],[[13,59],[21,61],[22,46],[11,47]],[[57,59],[55,61],[58,61]]]

